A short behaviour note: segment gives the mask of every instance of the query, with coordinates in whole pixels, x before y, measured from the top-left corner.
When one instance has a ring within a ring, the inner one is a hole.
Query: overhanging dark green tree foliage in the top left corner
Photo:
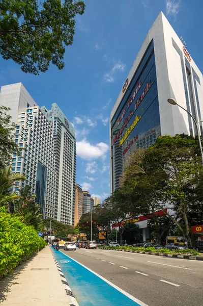
[[[1,0],[0,53],[22,71],[39,74],[50,62],[63,69],[65,46],[73,43],[75,16],[83,1]]]

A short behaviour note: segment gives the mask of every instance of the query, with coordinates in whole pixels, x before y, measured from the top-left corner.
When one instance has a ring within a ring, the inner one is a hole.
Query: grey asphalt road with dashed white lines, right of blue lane
[[[203,262],[103,249],[61,251],[148,306],[203,306]]]

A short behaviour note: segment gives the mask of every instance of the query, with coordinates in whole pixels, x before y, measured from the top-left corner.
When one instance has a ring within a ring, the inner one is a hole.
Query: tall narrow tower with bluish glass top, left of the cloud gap
[[[74,225],[76,142],[72,124],[62,110],[53,103],[51,110],[42,107],[52,124],[55,155],[55,212],[54,218]]]

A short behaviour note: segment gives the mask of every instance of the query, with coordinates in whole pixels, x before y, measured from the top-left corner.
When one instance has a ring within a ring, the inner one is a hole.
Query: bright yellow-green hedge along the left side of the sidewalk
[[[0,207],[0,276],[12,271],[21,261],[46,245],[33,226],[21,217],[7,213]]]

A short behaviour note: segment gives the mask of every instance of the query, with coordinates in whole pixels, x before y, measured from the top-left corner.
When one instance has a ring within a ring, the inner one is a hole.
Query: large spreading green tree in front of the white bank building
[[[124,171],[122,188],[149,210],[162,210],[191,246],[188,216],[203,201],[203,167],[198,140],[165,135],[148,149],[135,151]],[[172,209],[171,215],[164,209]]]

